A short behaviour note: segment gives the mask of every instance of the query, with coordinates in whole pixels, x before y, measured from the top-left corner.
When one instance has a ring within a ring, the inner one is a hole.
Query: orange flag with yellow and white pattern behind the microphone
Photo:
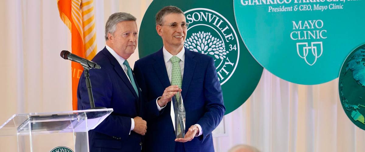
[[[59,16],[71,31],[72,54],[91,60],[96,54],[93,0],[57,0]],[[77,85],[84,68],[72,62],[72,109],[77,110]]]

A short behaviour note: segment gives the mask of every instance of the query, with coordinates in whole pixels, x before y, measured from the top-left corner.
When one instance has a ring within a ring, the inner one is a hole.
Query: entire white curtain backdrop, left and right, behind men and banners
[[[150,3],[94,0],[98,50],[105,46],[108,16],[131,13],[139,27]],[[57,0],[0,0],[0,20],[0,124],[16,113],[72,110],[71,63],[59,56],[71,50],[71,36],[59,18]],[[128,59],[131,67],[137,59],[138,49]],[[252,96],[225,116],[224,125],[226,134],[214,138],[217,152],[237,144],[263,152],[365,151],[365,131],[343,111],[338,79],[296,85],[264,70]],[[14,152],[16,137],[0,137],[0,147]]]

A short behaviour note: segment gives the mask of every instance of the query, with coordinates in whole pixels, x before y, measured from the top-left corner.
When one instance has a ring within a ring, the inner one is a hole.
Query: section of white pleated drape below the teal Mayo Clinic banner
[[[363,152],[365,131],[346,116],[338,78],[321,85],[297,85],[264,70],[251,95],[225,116],[227,136],[216,151],[238,144],[262,152]]]

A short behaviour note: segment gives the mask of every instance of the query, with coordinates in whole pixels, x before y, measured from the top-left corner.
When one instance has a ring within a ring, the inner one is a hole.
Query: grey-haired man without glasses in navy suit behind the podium
[[[137,46],[136,18],[128,13],[112,14],[105,25],[106,46],[92,61],[101,69],[91,69],[90,79],[95,106],[114,111],[99,126],[89,131],[90,152],[138,152],[146,121],[141,118],[141,91],[127,59]],[[85,78],[77,91],[78,109],[89,109]]]

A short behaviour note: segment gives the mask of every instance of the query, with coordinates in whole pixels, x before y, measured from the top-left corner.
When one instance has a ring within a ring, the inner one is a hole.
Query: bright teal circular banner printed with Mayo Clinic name
[[[234,0],[239,32],[268,71],[316,85],[338,77],[354,46],[365,42],[364,0]]]

